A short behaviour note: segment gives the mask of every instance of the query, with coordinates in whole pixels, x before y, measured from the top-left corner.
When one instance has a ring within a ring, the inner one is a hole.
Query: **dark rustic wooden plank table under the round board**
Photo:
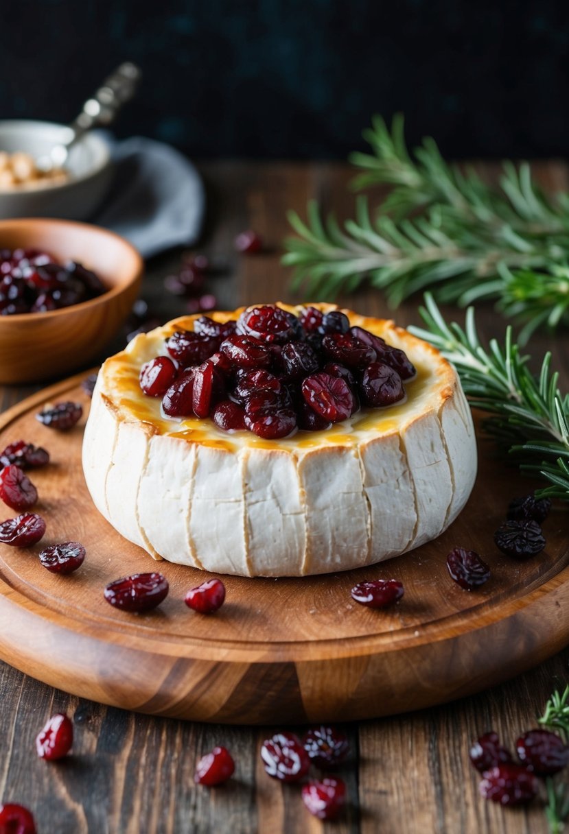
[[[496,175],[496,167],[481,166]],[[534,169],[546,188],[567,187],[567,168],[540,163]],[[289,234],[287,208],[304,211],[319,198],[342,216],[353,197],[345,188],[350,169],[332,163],[207,163],[201,166],[209,212],[200,251],[224,261],[226,270],[209,281],[219,306],[233,309],[254,301],[289,300],[287,275],[279,266],[279,246]],[[251,257],[234,253],[234,235],[253,228],[269,251]],[[144,282],[144,298],[164,320],[184,312],[179,299],[164,293],[162,279],[179,264],[179,253],[154,259]],[[343,299],[346,300],[346,299]],[[362,290],[349,306],[362,313],[389,314],[379,295]],[[400,324],[418,323],[416,300],[396,314]],[[460,316],[456,311],[451,314]],[[481,309],[483,334],[501,335],[503,321]],[[120,341],[114,347],[119,347]],[[569,339],[534,339],[536,355],[552,349],[569,384]],[[0,386],[0,410],[38,386]],[[512,470],[512,495],[520,492]],[[482,801],[468,761],[473,738],[496,729],[508,745],[534,726],[547,697],[569,681],[569,651],[526,675],[481,695],[406,716],[345,727],[350,761],[345,778],[350,806],[335,823],[311,817],[298,786],[282,786],[264,774],[259,746],[271,729],[209,726],[133,714],[53,690],[0,664],[0,798],[30,807],[39,834],[546,834],[540,803],[526,810],[502,810]],[[73,716],[73,756],[57,765],[38,760],[34,737],[53,712]],[[301,728],[299,728],[301,729]],[[194,765],[216,744],[236,761],[224,787],[194,786]]]

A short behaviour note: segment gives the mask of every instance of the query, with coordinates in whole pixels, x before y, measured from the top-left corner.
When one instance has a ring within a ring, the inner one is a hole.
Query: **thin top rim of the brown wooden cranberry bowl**
[[[82,223],[80,220],[63,220],[51,217],[14,217],[6,220],[0,220],[0,232],[15,223],[24,224],[26,226],[41,223],[49,226],[73,226],[73,228],[79,227],[79,229],[94,229],[96,232],[107,235],[109,238],[114,238],[124,247],[124,249],[128,249],[128,252],[133,258],[133,273],[123,284],[118,284],[117,286],[108,289],[103,294],[95,296],[94,299],[80,301],[79,304],[70,304],[68,307],[61,307],[57,310],[45,310],[43,313],[16,313],[13,315],[0,315],[0,328],[3,326],[3,322],[11,322],[13,324],[22,324],[25,321],[38,322],[38,317],[42,321],[48,321],[50,319],[62,318],[65,314],[69,314],[69,311],[93,309],[93,307],[97,307],[99,304],[106,304],[107,301],[123,294],[142,277],[144,271],[144,259],[138,252],[138,249],[136,249],[133,244],[129,243],[128,240],[123,238],[120,234],[112,232],[110,229],[105,229],[103,226],[96,226],[93,223]]]

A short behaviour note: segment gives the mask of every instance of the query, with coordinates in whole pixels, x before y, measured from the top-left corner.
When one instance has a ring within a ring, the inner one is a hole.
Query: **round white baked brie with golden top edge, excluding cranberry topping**
[[[107,359],[83,440],[99,512],[155,559],[246,576],[350,570],[440,535],[476,478],[460,380],[436,349],[393,322],[343,312],[405,350],[417,376],[405,383],[403,403],[284,440],[224,432],[209,419],[174,420],[159,398],[143,394],[142,364],[166,353],[175,330],[192,330],[195,316],[138,335]]]

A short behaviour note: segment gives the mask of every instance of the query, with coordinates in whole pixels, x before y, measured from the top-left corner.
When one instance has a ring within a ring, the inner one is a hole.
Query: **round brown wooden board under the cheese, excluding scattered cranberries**
[[[91,502],[81,468],[89,404],[81,379],[54,385],[0,419],[0,450],[24,439],[52,457],[30,473],[48,525],[43,541],[28,550],[0,545],[0,656],[28,675],[94,701],[197,721],[347,721],[465,696],[569,642],[566,511],[554,510],[546,521],[541,555],[526,562],[501,555],[492,534],[508,501],[528,485],[492,460],[484,444],[471,500],[438,540],[344,574],[227,577],[224,607],[209,617],[195,614],[184,593],[207,575],[154,562]],[[44,403],[61,399],[81,401],[85,412],[67,433],[35,420]],[[50,574],[37,558],[62,540],[87,549],[83,567],[70,576]],[[475,593],[446,571],[455,545],[477,550],[491,565],[491,580]],[[109,581],[157,568],[170,584],[159,609],[129,615],[103,599]],[[351,599],[357,581],[388,576],[405,585],[395,608],[374,611]]]

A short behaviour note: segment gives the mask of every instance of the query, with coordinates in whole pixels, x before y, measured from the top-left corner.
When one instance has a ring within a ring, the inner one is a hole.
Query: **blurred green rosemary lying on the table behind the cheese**
[[[350,159],[362,169],[355,188],[388,185],[375,213],[365,197],[355,219],[340,227],[322,219],[314,201],[305,223],[289,213],[297,237],[284,243],[283,263],[294,267],[293,289],[319,299],[350,292],[365,279],[392,306],[431,288],[442,302],[498,300],[525,324],[521,339],[541,324],[569,323],[569,198],[547,198],[526,163],[505,163],[500,188],[476,172],[446,163],[425,138],[411,157],[403,119],[391,130],[376,117],[365,131],[371,154]]]

